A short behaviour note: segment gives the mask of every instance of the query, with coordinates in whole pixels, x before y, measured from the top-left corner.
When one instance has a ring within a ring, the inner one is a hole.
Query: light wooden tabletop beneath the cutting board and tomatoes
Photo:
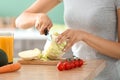
[[[0,80],[93,80],[104,67],[104,60],[87,60],[81,68],[67,71],[51,65],[22,65],[17,72],[0,74]]]

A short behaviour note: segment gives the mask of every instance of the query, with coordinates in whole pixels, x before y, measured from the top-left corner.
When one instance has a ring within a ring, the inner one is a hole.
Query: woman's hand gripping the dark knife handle
[[[45,30],[49,31],[52,25],[52,21],[45,13],[40,13],[37,15],[35,20],[35,27],[40,32],[40,34],[46,34]]]

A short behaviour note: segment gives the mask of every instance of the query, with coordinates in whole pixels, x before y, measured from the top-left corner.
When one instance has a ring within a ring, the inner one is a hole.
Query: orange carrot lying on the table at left
[[[7,73],[7,72],[14,72],[14,71],[19,70],[20,68],[21,68],[20,63],[8,64],[8,65],[0,67],[0,74]]]

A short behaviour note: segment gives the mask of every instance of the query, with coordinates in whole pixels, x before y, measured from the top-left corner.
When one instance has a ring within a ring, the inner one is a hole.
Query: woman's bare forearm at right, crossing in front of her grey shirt
[[[120,59],[120,43],[106,40],[89,33],[87,33],[83,40],[100,53]]]

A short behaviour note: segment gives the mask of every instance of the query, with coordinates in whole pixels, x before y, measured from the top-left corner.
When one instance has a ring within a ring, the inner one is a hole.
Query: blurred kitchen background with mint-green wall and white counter
[[[36,0],[1,0],[0,1],[0,30],[14,32],[14,57],[18,57],[18,53],[23,50],[39,48],[43,50],[46,43],[46,36],[40,35],[33,27],[31,29],[22,30],[15,26],[15,19],[26,8],[28,8]],[[64,5],[59,4],[52,9],[48,16],[53,22],[53,31],[62,31],[66,29],[64,25]],[[63,57],[71,57],[71,50]]]

